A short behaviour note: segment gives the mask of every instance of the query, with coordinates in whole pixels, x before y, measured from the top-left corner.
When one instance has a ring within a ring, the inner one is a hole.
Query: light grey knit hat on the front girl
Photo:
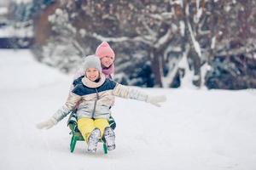
[[[84,71],[89,68],[96,68],[102,72],[101,60],[96,55],[88,55],[84,58]]]

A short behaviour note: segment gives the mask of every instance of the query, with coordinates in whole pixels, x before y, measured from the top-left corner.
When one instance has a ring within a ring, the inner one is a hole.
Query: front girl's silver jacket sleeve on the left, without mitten
[[[67,116],[69,112],[74,109],[75,105],[79,102],[81,98],[82,98],[81,96],[77,94],[73,94],[73,92],[70,92],[65,105],[63,105],[53,115],[53,118],[55,119],[55,121],[60,122],[65,116]]]

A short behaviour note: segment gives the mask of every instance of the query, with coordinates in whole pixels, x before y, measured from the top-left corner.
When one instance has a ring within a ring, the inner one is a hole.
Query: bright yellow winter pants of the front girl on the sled
[[[80,118],[78,121],[78,127],[80,133],[82,133],[82,136],[88,142],[88,139],[90,137],[90,133],[95,129],[98,128],[101,131],[101,137],[104,134],[104,130],[106,127],[109,127],[108,120],[107,119],[90,119],[90,118]]]

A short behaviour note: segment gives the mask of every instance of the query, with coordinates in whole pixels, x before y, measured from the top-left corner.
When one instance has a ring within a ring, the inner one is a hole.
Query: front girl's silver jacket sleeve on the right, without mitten
[[[125,99],[137,99],[140,101],[147,101],[148,99],[148,94],[142,92],[141,90],[124,86],[119,83],[117,83],[115,88],[113,88],[113,95]]]

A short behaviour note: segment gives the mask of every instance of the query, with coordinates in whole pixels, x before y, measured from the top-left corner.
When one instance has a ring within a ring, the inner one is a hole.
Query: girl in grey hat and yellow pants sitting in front
[[[48,120],[38,123],[37,127],[40,129],[53,127],[73,111],[80,101],[77,111],[78,127],[90,152],[96,151],[97,143],[101,138],[106,140],[108,150],[115,149],[115,135],[108,124],[114,96],[137,99],[156,106],[166,101],[166,96],[150,96],[136,88],[106,78],[102,74],[101,61],[95,55],[84,59],[84,77],[76,79],[73,86],[65,105]]]

